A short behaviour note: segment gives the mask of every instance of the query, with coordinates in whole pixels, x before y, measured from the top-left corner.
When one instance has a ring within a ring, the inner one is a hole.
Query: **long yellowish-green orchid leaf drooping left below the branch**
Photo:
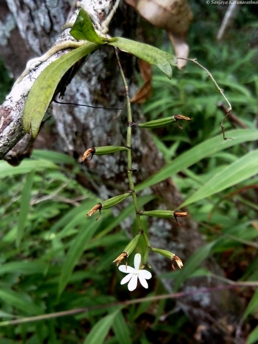
[[[87,56],[99,45],[86,42],[85,45],[61,56],[48,65],[35,80],[23,110],[23,126],[35,138],[40,124],[51,103],[55,89],[63,75],[82,57]]]

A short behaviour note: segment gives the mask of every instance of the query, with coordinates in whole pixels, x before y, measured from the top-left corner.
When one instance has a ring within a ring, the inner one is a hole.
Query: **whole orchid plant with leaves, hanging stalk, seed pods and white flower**
[[[99,216],[100,216],[101,211],[103,211],[104,209],[117,205],[118,203],[125,200],[125,198],[127,197],[132,197],[132,201],[135,208],[135,216],[136,216],[136,224],[138,227],[138,233],[130,241],[130,243],[123,250],[123,252],[114,260],[114,262],[116,262],[118,266],[123,259],[127,259],[127,257],[133,252],[133,250],[135,250],[138,244],[139,238],[142,237],[145,243],[145,248],[143,249],[143,252],[142,252],[143,253],[143,261],[142,261],[143,266],[149,266],[148,254],[150,251],[152,251],[171,259],[173,269],[175,269],[174,262],[176,262],[177,266],[181,269],[183,266],[183,263],[178,256],[176,256],[174,253],[169,252],[167,250],[154,248],[151,246],[148,236],[143,230],[141,216],[174,218],[175,221],[179,225],[182,225],[180,222],[177,221],[177,218],[181,216],[187,216],[188,213],[177,212],[177,211],[172,211],[172,210],[160,210],[160,209],[152,210],[152,211],[142,211],[139,208],[137,194],[135,192],[136,188],[135,188],[135,184],[133,182],[133,176],[132,176],[132,174],[137,171],[133,169],[132,167],[131,150],[133,149],[133,147],[132,147],[131,133],[132,133],[132,128],[133,130],[140,130],[141,128],[147,128],[147,129],[160,128],[160,127],[167,126],[172,122],[177,122],[178,120],[190,121],[191,118],[185,117],[183,115],[177,115],[177,116],[161,118],[161,119],[157,119],[153,121],[148,121],[144,123],[133,122],[131,106],[130,106],[130,98],[129,98],[129,92],[128,92],[128,85],[126,82],[125,75],[123,74],[123,71],[121,68],[121,64],[120,64],[120,60],[118,56],[118,50],[120,49],[124,52],[133,54],[136,57],[140,58],[141,60],[144,60],[151,65],[157,66],[169,79],[172,77],[172,66],[178,65],[178,60],[187,60],[187,61],[194,62],[195,64],[197,64],[199,67],[201,67],[207,72],[208,76],[212,79],[212,81],[218,88],[219,92],[227,101],[229,105],[227,112],[231,110],[231,105],[228,102],[227,98],[225,97],[223,90],[218,86],[218,84],[216,83],[211,73],[209,73],[207,69],[203,67],[202,65],[200,65],[195,59],[176,58],[174,55],[168,54],[160,49],[157,49],[156,47],[150,46],[148,44],[132,41],[129,39],[125,39],[123,37],[110,37],[110,36],[100,35],[95,30],[90,17],[83,9],[80,9],[78,13],[78,17],[70,31],[70,34],[73,36],[73,39],[78,41],[78,42],[72,41],[72,43],[71,42],[69,43],[69,44],[72,44],[73,47],[76,47],[76,49],[67,53],[66,55],[61,56],[56,61],[48,65],[40,74],[40,76],[37,77],[37,79],[35,80],[28,94],[28,97],[26,99],[26,103],[24,106],[24,112],[23,112],[24,129],[28,133],[31,133],[33,137],[36,137],[37,132],[39,131],[41,122],[43,120],[43,117],[45,115],[45,111],[53,99],[53,95],[56,92],[56,88],[59,85],[60,80],[67,73],[67,71],[69,71],[70,68],[73,68],[75,63],[77,63],[78,61],[81,61],[84,57],[91,54],[93,51],[100,49],[102,46],[112,46],[117,56],[118,66],[119,66],[122,81],[126,90],[126,100],[127,100],[127,103],[126,103],[127,104],[126,144],[123,146],[106,146],[106,147],[88,148],[86,152],[83,154],[82,161],[85,161],[86,163],[90,162],[90,160],[93,158],[93,155],[112,154],[118,151],[125,152],[125,154],[127,154],[127,175],[128,175],[129,191],[121,195],[111,197],[104,202],[99,202],[87,213],[87,216],[92,216],[96,212],[99,212]],[[61,44],[58,47],[58,49],[62,50],[63,45]],[[27,68],[26,68],[26,74],[28,74]],[[44,84],[44,92],[41,92],[42,84]],[[39,99],[39,95],[43,95],[43,96]],[[226,140],[227,138],[224,135],[223,128],[224,126],[223,126],[223,121],[222,121],[221,129],[223,133],[223,138]],[[132,268],[132,267],[127,268],[126,266],[121,266],[119,268],[120,271],[128,273],[128,275],[122,279],[122,284],[128,282],[129,290],[134,290],[136,288],[138,279],[144,288],[148,287],[148,283],[146,282],[146,279],[151,278],[151,273],[148,272],[147,270],[139,270],[140,260],[141,260],[141,257],[136,254],[135,268]]]

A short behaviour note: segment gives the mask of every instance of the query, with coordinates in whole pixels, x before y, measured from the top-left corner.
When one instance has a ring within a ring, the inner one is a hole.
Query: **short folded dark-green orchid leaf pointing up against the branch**
[[[89,41],[97,44],[106,44],[107,39],[100,37],[94,29],[92,21],[84,9],[80,9],[70,34],[77,40]]]

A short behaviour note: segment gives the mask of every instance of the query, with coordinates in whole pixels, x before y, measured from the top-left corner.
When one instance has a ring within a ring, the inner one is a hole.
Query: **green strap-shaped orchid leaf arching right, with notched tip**
[[[127,38],[114,37],[108,44],[117,46],[120,50],[133,54],[141,60],[157,66],[166,76],[172,78],[171,66],[176,66],[176,57],[149,44],[140,43]]]

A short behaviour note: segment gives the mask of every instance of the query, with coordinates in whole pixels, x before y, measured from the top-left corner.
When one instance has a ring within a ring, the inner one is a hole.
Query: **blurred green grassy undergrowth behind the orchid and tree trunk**
[[[216,142],[222,140],[223,117],[217,108],[222,98],[214,84],[204,71],[190,63],[183,71],[174,70],[171,80],[153,68],[153,97],[143,106],[148,119],[177,114],[193,118],[183,123],[182,130],[174,125],[153,131],[167,162],[160,175],[173,175],[206,240],[182,271],[162,276],[174,279],[175,289],[186,278],[210,275],[199,265],[212,254],[228,279],[258,281],[255,172],[258,52],[257,46],[252,47],[258,36],[258,22],[250,7],[241,7],[225,41],[217,43],[217,23],[225,8],[216,7],[215,11],[214,7],[198,3],[192,7],[195,19],[187,39],[191,57],[197,57],[211,71],[225,90],[234,113],[250,129],[230,132],[230,122],[226,121],[226,135],[234,141],[225,141],[227,149],[213,152],[216,143],[211,140],[216,136]],[[164,49],[173,53],[168,44]],[[197,144],[200,144],[198,154],[194,150]],[[178,171],[173,170],[176,159],[181,159],[177,160]],[[67,169],[67,165],[73,166],[72,169]],[[241,169],[240,176],[234,173],[237,168]],[[80,173],[72,158],[56,152],[34,151],[31,160],[15,168],[0,161],[1,344],[194,343],[186,316],[176,311],[168,314],[174,306],[171,300],[142,302],[123,309],[106,305],[142,295],[140,290],[132,295],[121,287],[122,276],[111,264],[128,243],[119,224],[133,213],[132,205],[118,217],[107,210],[97,222],[85,218],[99,199],[77,183],[76,174]],[[232,173],[230,181],[225,178],[229,173]],[[158,176],[148,182],[154,183]],[[215,182],[209,185],[210,180]],[[211,192],[211,187],[216,190],[219,183],[222,183],[219,192]],[[190,202],[190,197],[196,196],[200,189],[195,202]],[[140,197],[140,206],[151,197]],[[152,279],[148,295],[164,292],[162,283]],[[245,302],[243,320],[250,328],[247,343],[256,343],[257,291],[250,293]],[[77,308],[85,310],[38,322],[8,323]],[[165,320],[160,318],[163,314]]]

